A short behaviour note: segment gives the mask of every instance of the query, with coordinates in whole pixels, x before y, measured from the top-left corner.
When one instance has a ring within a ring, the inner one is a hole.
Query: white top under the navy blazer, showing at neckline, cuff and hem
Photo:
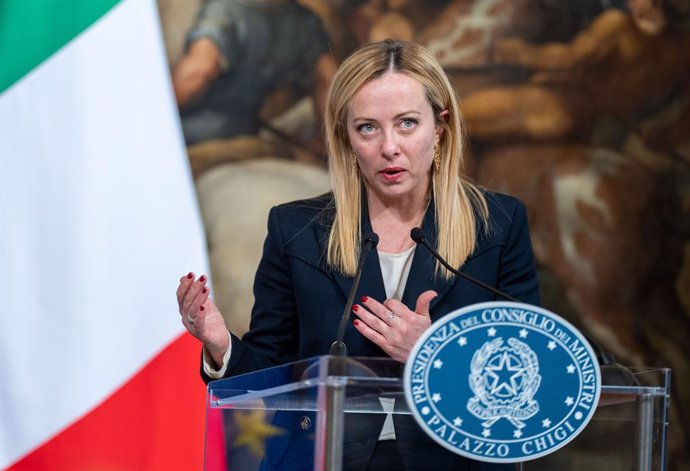
[[[414,255],[415,246],[410,247],[401,253],[386,253],[379,252],[379,264],[381,266],[381,276],[383,277],[383,286],[386,289],[387,299],[397,299],[400,301],[405,292],[405,285],[407,285],[407,277],[410,274],[410,267],[412,266],[412,258]],[[232,339],[230,332],[228,332],[228,350],[223,355],[223,365],[219,370],[215,370],[208,362],[206,349],[204,349],[204,372],[211,378],[220,379],[225,374],[228,368],[228,361],[230,360],[230,350],[232,349]],[[395,429],[393,428],[393,416],[391,412],[395,406],[395,399],[393,398],[379,398],[383,410],[387,412],[386,420],[383,423],[379,440],[394,440]]]

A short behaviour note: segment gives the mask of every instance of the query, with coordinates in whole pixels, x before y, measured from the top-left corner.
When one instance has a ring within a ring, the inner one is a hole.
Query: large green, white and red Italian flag
[[[203,468],[208,273],[154,0],[0,2],[0,470]]]

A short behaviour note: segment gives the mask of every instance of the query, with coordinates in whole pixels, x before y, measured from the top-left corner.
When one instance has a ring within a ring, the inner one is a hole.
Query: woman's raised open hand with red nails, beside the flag
[[[194,273],[191,272],[180,278],[177,304],[182,325],[204,344],[213,361],[220,367],[229,347],[228,329],[223,315],[208,297],[207,281],[204,275],[195,280]]]

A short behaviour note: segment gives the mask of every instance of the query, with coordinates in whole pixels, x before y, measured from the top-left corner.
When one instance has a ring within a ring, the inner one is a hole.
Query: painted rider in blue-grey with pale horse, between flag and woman
[[[239,332],[249,323],[245,313],[253,301],[252,274],[266,233],[265,219],[257,215],[329,187],[321,162],[311,165],[323,153],[308,140],[310,130],[307,139],[298,140],[312,160],[296,157],[297,146],[258,136],[264,126],[259,115],[269,95],[289,89],[295,95],[311,93],[314,106],[303,100],[306,107],[298,108],[306,108],[307,124],[314,124],[335,69],[322,21],[286,0],[204,2],[188,33],[186,52],[173,69],[216,298],[228,325]]]

